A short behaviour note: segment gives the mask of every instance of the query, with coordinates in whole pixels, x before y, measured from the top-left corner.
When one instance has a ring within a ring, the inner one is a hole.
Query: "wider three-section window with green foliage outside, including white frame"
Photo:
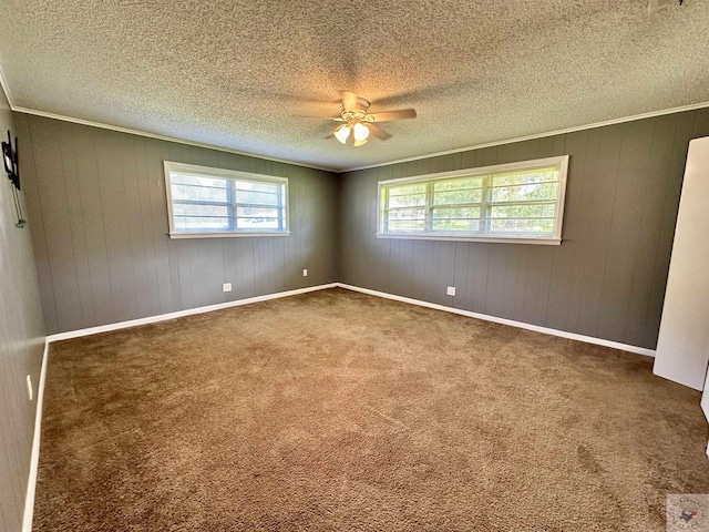
[[[568,155],[379,182],[384,238],[559,244]]]

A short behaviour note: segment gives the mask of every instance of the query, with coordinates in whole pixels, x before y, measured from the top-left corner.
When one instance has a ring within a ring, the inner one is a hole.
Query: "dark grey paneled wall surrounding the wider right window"
[[[345,174],[341,280],[655,348],[687,147],[707,134],[703,109]],[[561,246],[374,237],[380,180],[564,154]]]

